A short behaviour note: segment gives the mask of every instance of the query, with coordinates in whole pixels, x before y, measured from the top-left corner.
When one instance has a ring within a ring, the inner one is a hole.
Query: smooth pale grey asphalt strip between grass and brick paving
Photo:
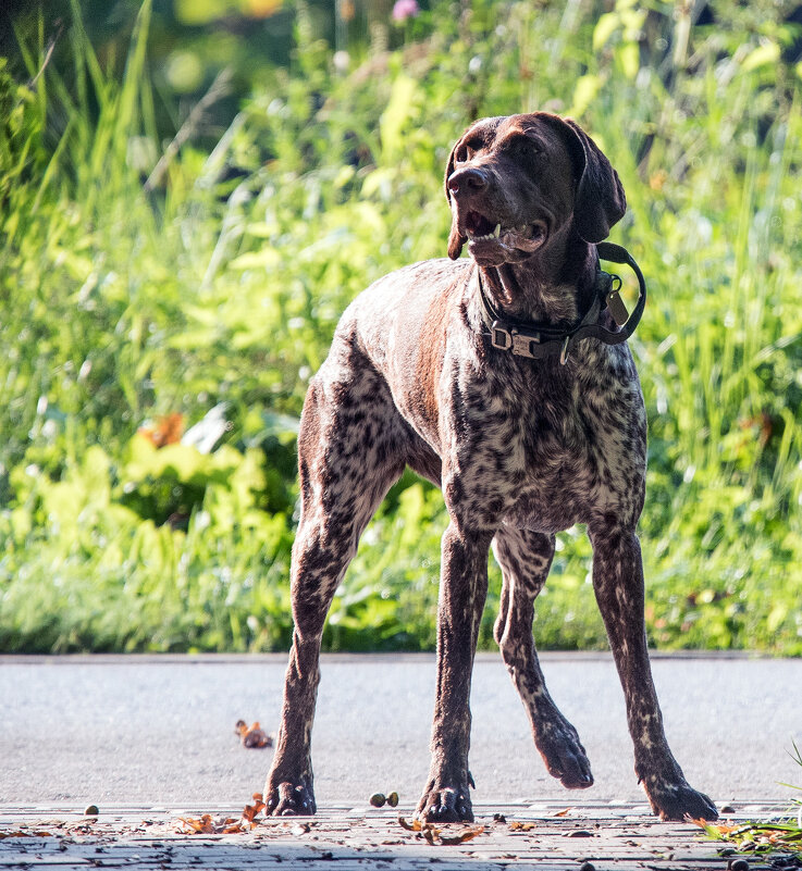
[[[542,657],[577,726],[595,785],[547,775],[497,655],[477,658],[474,802],[643,802],[609,655]],[[285,656],[0,657],[0,804],[221,806],[260,791],[272,750],[246,749],[237,720],[277,727]],[[802,660],[655,657],[666,732],[689,782],[719,804],[784,801],[802,785]],[[323,657],[313,731],[319,807],[425,780],[434,657]]]

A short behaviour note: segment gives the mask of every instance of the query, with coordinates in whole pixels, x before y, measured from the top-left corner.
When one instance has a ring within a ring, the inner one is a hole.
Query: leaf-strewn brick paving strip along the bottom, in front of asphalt
[[[578,806],[477,806],[476,823],[415,832],[398,821],[412,808],[329,807],[311,819],[267,820],[244,834],[182,834],[181,819],[199,820],[209,808],[101,808],[97,819],[60,807],[0,806],[0,869],[86,871],[91,868],[308,871],[390,869],[437,871],[535,868],[538,871],[726,871],[739,857],[705,839],[690,824],[662,823],[645,806],[585,802]],[[212,824],[240,809],[217,807]],[[733,820],[761,818],[781,808],[732,807]],[[478,831],[482,829],[482,831]],[[448,838],[476,833],[461,844]],[[11,835],[11,836],[10,836]],[[799,868],[791,859],[747,858],[749,868]],[[744,866],[736,866],[745,871]]]

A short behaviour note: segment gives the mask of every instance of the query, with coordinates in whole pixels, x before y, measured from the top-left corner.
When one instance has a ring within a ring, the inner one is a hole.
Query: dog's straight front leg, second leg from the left
[[[472,820],[468,771],[470,682],[484,599],[492,532],[452,522],[443,535],[437,608],[437,686],[429,781],[418,804],[428,821]]]

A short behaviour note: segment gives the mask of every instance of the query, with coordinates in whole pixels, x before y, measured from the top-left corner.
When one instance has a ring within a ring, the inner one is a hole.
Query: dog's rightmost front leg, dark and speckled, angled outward
[[[634,769],[654,813],[664,820],[715,820],[715,805],[692,789],[668,747],[652,680],[643,622],[643,565],[632,530],[589,527],[593,588],[627,702]]]

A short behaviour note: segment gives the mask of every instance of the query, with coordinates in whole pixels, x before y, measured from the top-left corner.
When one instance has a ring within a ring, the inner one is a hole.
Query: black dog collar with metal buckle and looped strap
[[[638,276],[639,296],[632,314],[627,312],[627,307],[619,296],[621,279],[618,275],[612,275],[600,269],[596,273],[596,293],[593,304],[576,326],[569,329],[558,329],[548,324],[504,318],[499,315],[488,296],[481,274],[477,271],[482,321],[490,331],[493,347],[532,360],[559,354],[559,362],[565,363],[571,348],[582,339],[595,338],[607,345],[619,345],[626,341],[634,333],[643,314],[643,308],[646,304],[646,282],[640,266],[626,248],[613,242],[599,242],[596,251],[601,260],[626,263]],[[613,319],[618,324],[618,329],[607,329],[599,323],[599,316],[605,308],[609,309]]]

